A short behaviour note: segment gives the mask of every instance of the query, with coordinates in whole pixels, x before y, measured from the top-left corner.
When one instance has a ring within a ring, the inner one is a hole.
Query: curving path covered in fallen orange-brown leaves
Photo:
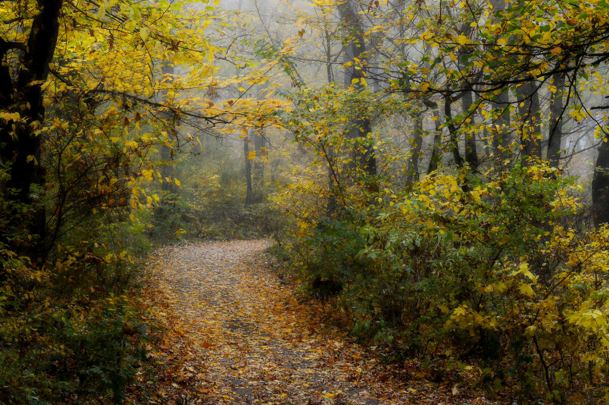
[[[147,382],[149,403],[495,403],[466,379],[434,381],[418,361],[384,364],[374,348],[343,336],[273,272],[270,245],[197,242],[155,252],[148,287],[165,326],[149,347],[162,366]]]

